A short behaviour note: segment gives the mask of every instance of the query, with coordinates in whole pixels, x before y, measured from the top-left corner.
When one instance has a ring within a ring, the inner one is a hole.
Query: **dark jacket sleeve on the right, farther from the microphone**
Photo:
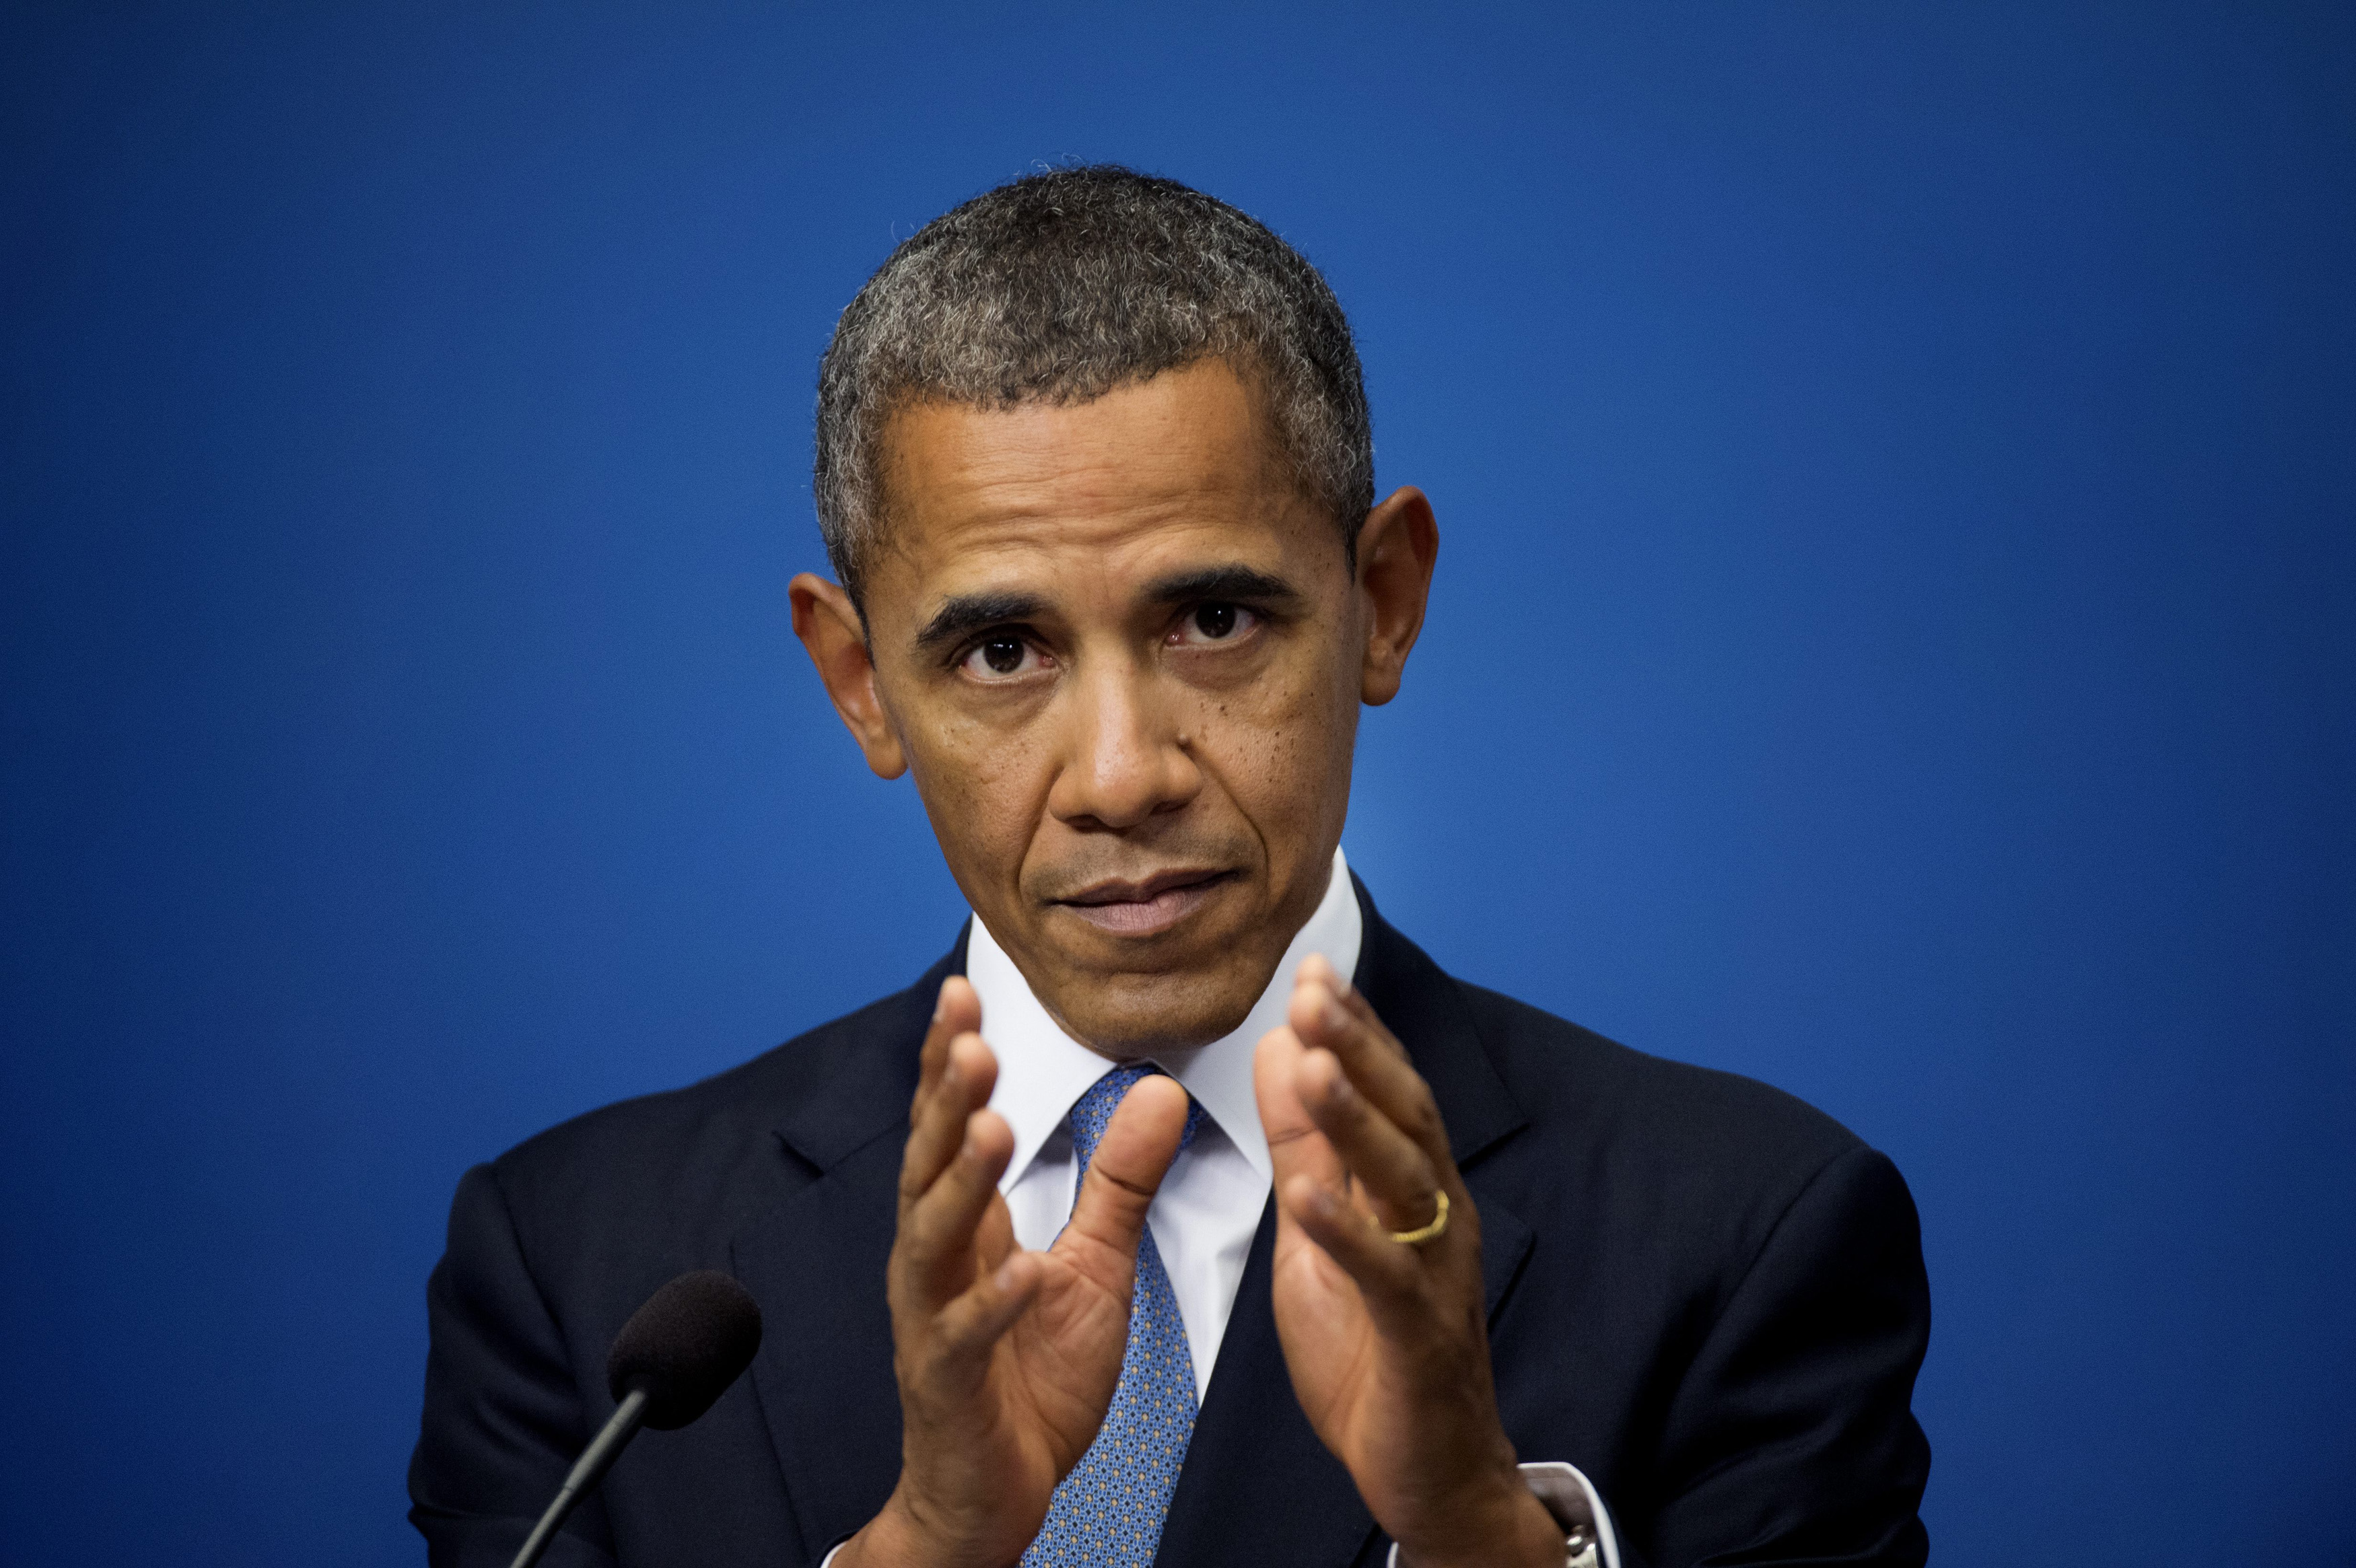
[[[1776,1220],[1680,1382],[1630,1568],[1920,1568],[1927,1342],[1913,1198],[1885,1156],[1849,1149]]]

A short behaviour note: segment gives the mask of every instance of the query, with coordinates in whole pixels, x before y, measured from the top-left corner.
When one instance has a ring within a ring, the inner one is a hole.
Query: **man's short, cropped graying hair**
[[[1303,494],[1357,558],[1374,506],[1366,384],[1341,301],[1265,224],[1117,165],[1025,174],[893,250],[818,367],[810,490],[860,600],[881,527],[881,433],[909,403],[1088,403],[1220,358],[1268,396]]]

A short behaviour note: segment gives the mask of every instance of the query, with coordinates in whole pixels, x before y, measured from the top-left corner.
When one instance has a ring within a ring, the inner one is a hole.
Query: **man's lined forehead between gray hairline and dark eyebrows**
[[[1006,579],[1119,593],[1204,553],[1275,565],[1317,530],[1341,553],[1263,393],[1218,360],[1063,407],[919,403],[886,426],[884,454],[872,614]]]

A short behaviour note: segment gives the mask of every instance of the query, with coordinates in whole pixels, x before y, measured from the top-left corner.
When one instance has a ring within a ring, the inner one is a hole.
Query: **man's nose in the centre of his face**
[[[1063,768],[1046,808],[1081,831],[1124,833],[1202,791],[1202,768],[1185,749],[1185,702],[1150,669],[1098,662],[1063,692]]]

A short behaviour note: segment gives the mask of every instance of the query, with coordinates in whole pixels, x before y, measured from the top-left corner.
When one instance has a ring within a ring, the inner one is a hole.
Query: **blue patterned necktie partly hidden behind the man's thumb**
[[[1072,1156],[1079,1180],[1088,1175],[1096,1140],[1112,1121],[1138,1078],[1162,1071],[1152,1062],[1114,1067],[1072,1104]],[[1202,1107],[1192,1099],[1185,1135],[1194,1142]],[[1074,1191],[1079,1184],[1074,1180]],[[1046,1523],[1030,1549],[1025,1568],[1147,1568],[1162,1544],[1162,1516],[1178,1490],[1178,1467],[1185,1443],[1194,1436],[1194,1354],[1178,1318],[1169,1269],[1152,1227],[1138,1236],[1138,1283],[1129,1297],[1129,1349],[1121,1351],[1121,1382],[1112,1389],[1105,1424],[1079,1455],[1079,1464],[1055,1488]]]

